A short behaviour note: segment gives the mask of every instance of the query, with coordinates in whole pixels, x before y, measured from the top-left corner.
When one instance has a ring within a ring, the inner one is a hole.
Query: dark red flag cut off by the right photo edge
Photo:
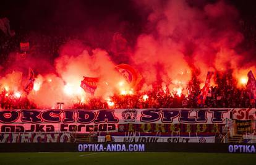
[[[255,103],[256,99],[256,80],[254,77],[254,74],[252,73],[252,70],[248,72],[248,82],[247,82],[247,89],[249,90],[249,96],[250,96],[250,102]]]

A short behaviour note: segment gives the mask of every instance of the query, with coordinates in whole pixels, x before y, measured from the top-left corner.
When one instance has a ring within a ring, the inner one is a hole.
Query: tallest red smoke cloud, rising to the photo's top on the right
[[[191,4],[140,2],[140,7],[152,12],[148,16],[148,32],[139,36],[132,59],[148,83],[160,78],[166,83],[171,80],[186,84],[195,70],[200,71],[202,82],[208,70],[233,69],[239,78],[237,73],[246,56],[236,51],[244,39],[237,26],[237,10],[224,1],[203,7]]]

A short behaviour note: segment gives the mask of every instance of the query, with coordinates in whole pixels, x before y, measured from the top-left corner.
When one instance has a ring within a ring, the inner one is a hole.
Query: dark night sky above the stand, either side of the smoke
[[[255,21],[255,1],[226,1],[236,6],[242,17]],[[141,25],[147,20],[147,12],[142,15],[134,2],[127,0],[2,0],[0,17],[9,18],[15,30],[42,30],[54,26],[84,28],[109,19]]]

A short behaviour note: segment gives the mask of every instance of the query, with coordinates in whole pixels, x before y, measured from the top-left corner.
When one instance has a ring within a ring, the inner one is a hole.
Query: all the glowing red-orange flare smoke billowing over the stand
[[[244,37],[237,27],[239,13],[233,6],[219,1],[202,7],[184,0],[138,1],[134,5],[150,14],[133,48],[120,35],[122,42],[109,44],[109,50],[114,50],[112,54],[72,40],[61,46],[60,56],[54,59],[54,64],[29,55],[22,64],[13,61],[6,69],[9,73],[1,77],[0,85],[22,91],[23,81],[19,75],[25,73],[23,68],[32,67],[37,77],[28,99],[38,108],[53,108],[56,102],[65,102],[68,107],[92,97],[80,88],[83,76],[100,78],[95,96],[101,99],[109,100],[109,96],[124,91],[132,93],[125,78],[114,68],[124,57],[143,76],[139,92],[152,90],[153,83],[158,83],[163,90],[168,87],[179,95],[187,94],[187,83],[195,70],[199,71],[202,83],[207,71],[232,69],[237,80],[246,78],[249,70],[255,73],[255,64],[244,63],[247,61],[245,51],[237,51]],[[14,66],[20,70],[16,74],[12,72]],[[121,85],[122,82],[125,84]]]

